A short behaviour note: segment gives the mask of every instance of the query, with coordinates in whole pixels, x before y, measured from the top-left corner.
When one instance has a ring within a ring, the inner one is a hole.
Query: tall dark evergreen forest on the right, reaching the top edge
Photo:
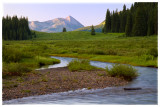
[[[107,9],[103,33],[125,32],[126,36],[158,34],[158,3],[135,2],[130,9],[110,12]]]

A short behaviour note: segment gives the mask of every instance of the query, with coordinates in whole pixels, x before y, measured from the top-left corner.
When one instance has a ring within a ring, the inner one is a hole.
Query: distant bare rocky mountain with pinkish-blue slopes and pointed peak
[[[62,32],[63,27],[67,31],[73,31],[84,26],[72,16],[68,16],[66,18],[56,18],[44,22],[30,21],[29,27],[32,30],[41,32]]]

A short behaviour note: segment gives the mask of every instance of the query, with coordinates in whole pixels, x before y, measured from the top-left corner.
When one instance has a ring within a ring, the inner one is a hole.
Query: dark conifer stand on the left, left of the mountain
[[[17,16],[6,16],[2,18],[3,40],[27,40],[36,37],[28,26],[28,18]]]

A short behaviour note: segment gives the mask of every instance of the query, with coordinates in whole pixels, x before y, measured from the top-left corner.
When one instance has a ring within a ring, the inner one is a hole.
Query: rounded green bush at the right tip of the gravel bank
[[[120,77],[131,81],[138,76],[137,70],[129,65],[115,64],[111,69],[106,67],[106,72],[112,77]]]

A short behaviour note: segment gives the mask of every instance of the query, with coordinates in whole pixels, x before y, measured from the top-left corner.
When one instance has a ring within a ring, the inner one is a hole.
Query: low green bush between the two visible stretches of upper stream
[[[80,60],[80,59],[75,59],[72,60],[69,64],[68,64],[68,68],[70,71],[83,71],[83,70],[94,70],[97,69],[94,66],[91,66],[89,63],[89,60]]]

